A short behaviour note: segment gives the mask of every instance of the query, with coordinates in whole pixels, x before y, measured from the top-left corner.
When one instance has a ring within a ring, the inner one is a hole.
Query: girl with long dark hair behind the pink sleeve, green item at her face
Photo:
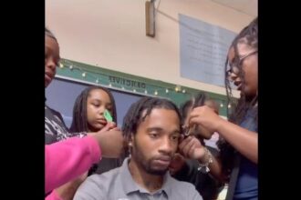
[[[106,111],[112,116],[112,122],[106,120],[104,116]],[[116,122],[115,100],[109,89],[101,86],[89,86],[77,97],[73,107],[70,131],[78,133],[119,130]],[[103,158],[99,165],[91,167],[88,175],[101,174],[119,167],[121,164],[122,162],[118,158]]]

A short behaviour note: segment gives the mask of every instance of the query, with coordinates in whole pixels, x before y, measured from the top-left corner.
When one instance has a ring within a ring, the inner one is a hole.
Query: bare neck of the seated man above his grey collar
[[[150,193],[159,190],[163,184],[162,175],[148,174],[133,159],[130,159],[129,170],[133,180]]]

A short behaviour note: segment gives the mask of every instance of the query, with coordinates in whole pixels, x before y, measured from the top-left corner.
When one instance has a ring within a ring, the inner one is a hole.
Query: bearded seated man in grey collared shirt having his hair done
[[[177,181],[168,172],[181,131],[176,105],[166,99],[141,98],[130,106],[122,125],[130,156],[119,168],[89,176],[74,199],[202,200],[192,184]]]

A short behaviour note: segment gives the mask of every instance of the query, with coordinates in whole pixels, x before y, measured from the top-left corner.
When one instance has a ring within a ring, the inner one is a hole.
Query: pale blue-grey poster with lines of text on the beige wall
[[[224,64],[236,34],[182,14],[179,21],[181,76],[224,86]]]

